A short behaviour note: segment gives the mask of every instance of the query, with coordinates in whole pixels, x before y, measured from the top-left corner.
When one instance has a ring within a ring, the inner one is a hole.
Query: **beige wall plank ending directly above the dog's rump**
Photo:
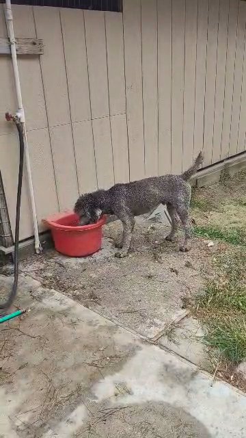
[[[172,0],[172,173],[182,172],[185,3]]]

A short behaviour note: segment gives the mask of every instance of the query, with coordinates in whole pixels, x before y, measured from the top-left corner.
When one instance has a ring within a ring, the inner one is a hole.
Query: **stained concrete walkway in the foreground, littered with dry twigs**
[[[0,327],[1,438],[245,437],[230,385],[29,277],[18,300],[31,311]]]

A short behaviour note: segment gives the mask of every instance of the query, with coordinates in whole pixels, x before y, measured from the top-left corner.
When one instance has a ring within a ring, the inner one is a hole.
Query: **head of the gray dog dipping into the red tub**
[[[74,205],[74,213],[79,216],[79,225],[96,224],[102,216],[102,209],[93,193],[83,194]]]

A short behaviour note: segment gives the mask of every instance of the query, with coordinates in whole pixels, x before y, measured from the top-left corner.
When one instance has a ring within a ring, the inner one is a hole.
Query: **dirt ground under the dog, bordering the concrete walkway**
[[[177,242],[166,242],[169,229],[165,225],[138,218],[133,252],[117,259],[113,242],[121,232],[119,221],[107,224],[102,250],[92,257],[72,259],[50,250],[23,261],[20,270],[42,287],[55,289],[210,371],[198,339],[200,330],[194,332],[190,324],[187,329],[189,311],[183,300],[199,293],[204,279],[213,276],[213,257],[227,244],[215,242],[210,247],[206,240],[193,237],[191,251],[180,253],[182,233]],[[178,342],[172,342],[173,337]]]

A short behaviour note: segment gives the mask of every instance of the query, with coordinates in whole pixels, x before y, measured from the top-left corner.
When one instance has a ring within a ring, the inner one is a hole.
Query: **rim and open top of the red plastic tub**
[[[56,229],[61,231],[70,231],[73,233],[76,233],[77,231],[90,231],[92,229],[96,229],[99,227],[102,227],[102,225],[105,225],[106,223],[106,216],[102,216],[96,224],[89,224],[89,225],[78,225],[77,227],[74,227],[72,225],[62,225],[56,222],[56,220],[59,220],[63,218],[64,216],[77,216],[74,214],[73,211],[64,211],[63,213],[59,213],[53,216],[49,216],[49,218],[43,219],[42,222],[46,224],[49,229]]]

